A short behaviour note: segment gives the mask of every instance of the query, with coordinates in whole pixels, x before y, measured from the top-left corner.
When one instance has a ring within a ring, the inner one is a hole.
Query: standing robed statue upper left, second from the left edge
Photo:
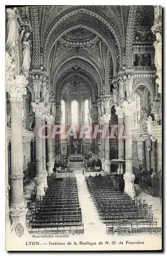
[[[22,45],[22,66],[21,66],[21,72],[24,75],[28,75],[30,66],[31,66],[31,54],[30,54],[30,47],[31,41],[29,39],[30,32],[26,31],[21,39],[21,45]]]

